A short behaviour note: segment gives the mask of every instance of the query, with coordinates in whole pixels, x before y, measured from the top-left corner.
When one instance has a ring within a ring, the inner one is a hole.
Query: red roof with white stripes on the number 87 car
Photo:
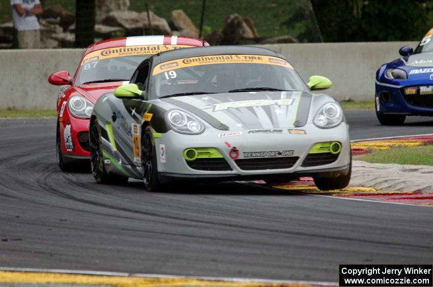
[[[205,46],[209,44],[204,41]],[[135,36],[123,37],[109,40],[103,40],[92,44],[87,49],[87,53],[107,48],[137,46],[137,45],[190,45],[190,46],[203,46],[203,40],[186,37],[186,36]],[[86,53],[86,54],[87,54]]]

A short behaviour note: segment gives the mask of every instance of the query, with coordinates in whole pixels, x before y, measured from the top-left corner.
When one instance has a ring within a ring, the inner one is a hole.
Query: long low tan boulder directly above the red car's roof
[[[171,35],[170,26],[164,18],[150,12],[150,21],[152,22],[154,35]],[[106,16],[102,23],[107,26],[124,28],[125,36],[141,36],[143,35],[143,29],[145,29],[146,35],[150,35],[150,25],[146,12],[114,11]]]

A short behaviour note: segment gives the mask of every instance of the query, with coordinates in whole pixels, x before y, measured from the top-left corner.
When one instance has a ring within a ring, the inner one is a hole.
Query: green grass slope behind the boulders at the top
[[[167,20],[172,10],[182,9],[199,28],[202,0],[130,0],[129,9],[143,12],[146,2],[150,10]],[[0,0],[0,23],[12,20],[10,3],[10,0]],[[43,0],[42,3],[44,7],[60,4],[67,11],[75,13],[75,1]],[[287,20],[293,9],[306,5],[305,0],[211,0],[206,2],[204,25],[211,30],[220,29],[227,16],[237,13],[253,19],[260,37],[296,37],[303,27],[286,27],[281,26],[281,23]]]

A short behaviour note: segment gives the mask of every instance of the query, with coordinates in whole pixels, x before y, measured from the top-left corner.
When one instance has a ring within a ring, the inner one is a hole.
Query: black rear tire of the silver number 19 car
[[[104,166],[102,154],[102,141],[98,119],[92,122],[90,127],[90,168],[92,175],[99,184],[125,184],[128,177],[117,174],[108,174]]]

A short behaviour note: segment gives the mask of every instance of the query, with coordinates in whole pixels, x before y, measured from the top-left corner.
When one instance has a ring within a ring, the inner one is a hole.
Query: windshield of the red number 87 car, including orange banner
[[[192,47],[188,45],[146,45],[101,49],[87,54],[80,63],[75,85],[129,81],[146,58],[163,51]]]

